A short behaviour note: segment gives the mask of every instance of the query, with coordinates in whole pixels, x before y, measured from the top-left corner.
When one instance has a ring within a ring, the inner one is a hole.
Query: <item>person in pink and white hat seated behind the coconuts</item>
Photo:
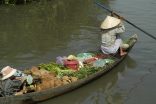
[[[20,88],[23,85],[25,78],[22,80],[20,76],[14,76],[14,74],[17,74],[16,72],[17,70],[11,68],[10,66],[6,66],[1,70],[3,75],[1,86],[2,96],[6,97],[10,95],[22,95],[24,93],[24,91],[20,90]]]

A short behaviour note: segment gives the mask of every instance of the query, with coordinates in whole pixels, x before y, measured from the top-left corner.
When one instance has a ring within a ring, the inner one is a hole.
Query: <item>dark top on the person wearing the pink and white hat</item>
[[[20,86],[22,85],[22,82],[20,80],[11,80],[11,79],[6,79],[2,81],[2,86],[1,86],[1,95],[2,96],[10,96],[14,95],[15,91],[14,89],[20,89]]]

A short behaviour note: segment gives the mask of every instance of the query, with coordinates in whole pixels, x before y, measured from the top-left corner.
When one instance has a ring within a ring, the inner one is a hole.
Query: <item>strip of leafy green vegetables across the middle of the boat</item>
[[[50,72],[54,72],[58,78],[61,78],[62,76],[73,76],[77,77],[78,79],[86,78],[89,75],[92,75],[96,73],[99,70],[102,70],[103,68],[95,68],[91,66],[85,66],[80,68],[79,70],[71,70],[63,65],[56,64],[54,62],[51,62],[50,64],[43,64],[41,63],[39,65],[40,69],[46,69]]]

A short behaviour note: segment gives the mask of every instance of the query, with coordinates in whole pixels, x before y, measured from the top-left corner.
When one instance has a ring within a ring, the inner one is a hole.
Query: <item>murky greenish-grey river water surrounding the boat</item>
[[[155,0],[98,0],[156,37]],[[23,70],[57,56],[99,50],[100,25],[109,13],[93,0],[42,0],[0,6],[0,68]],[[38,104],[155,104],[156,40],[124,22],[123,39],[138,35],[126,58],[99,79]]]

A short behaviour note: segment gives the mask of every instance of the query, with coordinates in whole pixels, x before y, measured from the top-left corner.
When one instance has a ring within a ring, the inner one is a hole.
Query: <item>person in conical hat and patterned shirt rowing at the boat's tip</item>
[[[125,27],[122,19],[117,19],[112,16],[107,16],[101,24],[102,44],[101,51],[104,54],[115,54],[118,49],[120,56],[124,56],[127,52],[122,50],[122,39],[120,34],[125,32]]]

